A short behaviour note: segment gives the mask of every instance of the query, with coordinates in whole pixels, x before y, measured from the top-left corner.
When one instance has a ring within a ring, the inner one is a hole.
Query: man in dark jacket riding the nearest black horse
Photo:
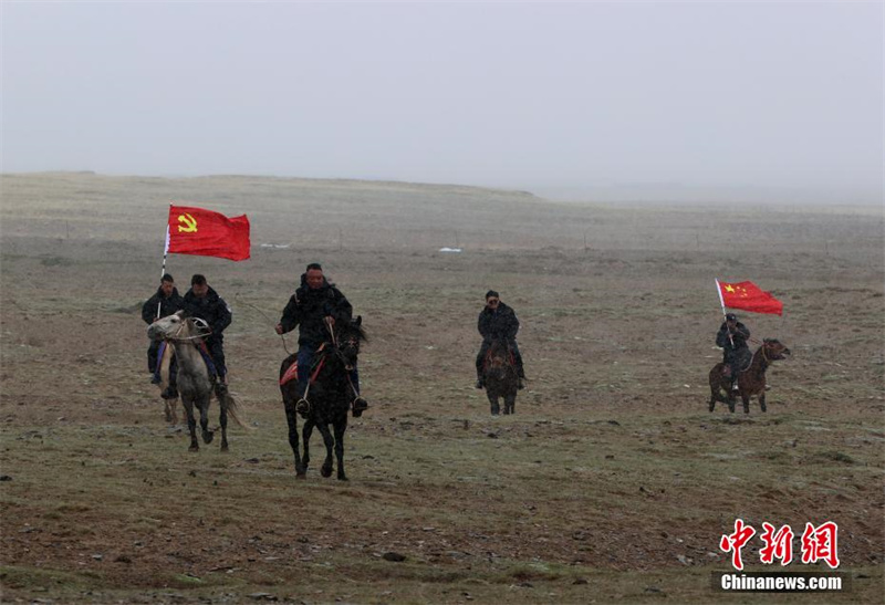
[[[299,409],[305,407],[310,372],[316,350],[327,342],[330,328],[335,324],[347,324],[353,317],[353,306],[341,293],[341,290],[326,281],[323,268],[311,263],[301,275],[301,286],[289,299],[283,310],[277,334],[285,334],[298,326],[298,393],[301,399],[295,404]],[[354,364],[351,371],[351,385],[354,389],[353,415],[360,417],[368,409],[368,403],[360,396],[360,373]]]

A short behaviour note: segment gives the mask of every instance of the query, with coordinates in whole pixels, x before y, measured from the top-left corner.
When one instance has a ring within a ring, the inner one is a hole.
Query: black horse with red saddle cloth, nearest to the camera
[[[329,342],[324,343],[314,357],[314,368],[311,374],[310,387],[306,399],[309,409],[296,410],[295,403],[301,398],[298,393],[298,380],[292,379],[280,385],[285,407],[285,419],[289,423],[289,445],[295,456],[295,478],[304,479],[310,463],[310,438],[313,427],[320,429],[325,444],[326,457],[320,472],[323,477],[332,476],[332,448],[339,461],[337,478],[347,480],[344,473],[344,431],[347,430],[347,410],[355,395],[354,385],[351,384],[350,369],[356,363],[360,354],[360,343],[366,340],[362,327],[362,317],[357,316],[347,325],[335,326],[334,337],[330,334]],[[280,366],[280,380],[287,371],[295,363],[296,355],[287,357]],[[298,444],[298,414],[304,418],[302,440],[304,455],[299,451]],[[333,431],[329,430],[332,426]],[[334,432],[334,437],[333,437]]]

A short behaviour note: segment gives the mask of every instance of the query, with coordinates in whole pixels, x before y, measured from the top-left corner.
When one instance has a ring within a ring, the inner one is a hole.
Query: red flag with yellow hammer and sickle
[[[229,219],[202,208],[169,206],[168,251],[246,260],[249,258],[249,219],[246,215]]]

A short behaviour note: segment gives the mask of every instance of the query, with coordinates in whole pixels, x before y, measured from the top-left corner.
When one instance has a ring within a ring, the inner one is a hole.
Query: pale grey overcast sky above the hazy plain
[[[882,201],[882,2],[0,10],[7,173]]]

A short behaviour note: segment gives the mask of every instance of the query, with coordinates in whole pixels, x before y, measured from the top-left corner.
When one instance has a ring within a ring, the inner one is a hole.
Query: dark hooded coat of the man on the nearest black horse
[[[353,306],[325,278],[323,285],[312,290],[308,285],[306,273],[302,274],[301,286],[290,296],[280,320],[283,333],[291,332],[298,326],[298,344],[320,346],[329,336],[323,323],[325,316],[332,316],[336,324],[350,323],[353,317]]]

